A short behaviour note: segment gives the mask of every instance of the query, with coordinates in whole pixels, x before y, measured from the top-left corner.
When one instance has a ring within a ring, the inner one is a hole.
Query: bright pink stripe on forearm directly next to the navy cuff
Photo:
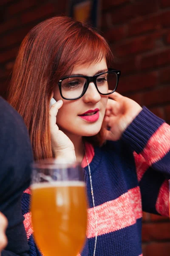
[[[161,160],[170,151],[170,125],[163,123],[148,140],[142,156],[149,165]]]

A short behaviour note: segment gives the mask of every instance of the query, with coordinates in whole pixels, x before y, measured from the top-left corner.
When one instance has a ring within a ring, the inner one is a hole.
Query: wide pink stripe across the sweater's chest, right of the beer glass
[[[94,195],[95,196],[95,195]],[[98,236],[129,227],[142,218],[142,203],[139,186],[128,190],[113,201],[106,202],[96,208]],[[96,233],[94,208],[88,209],[87,237]]]

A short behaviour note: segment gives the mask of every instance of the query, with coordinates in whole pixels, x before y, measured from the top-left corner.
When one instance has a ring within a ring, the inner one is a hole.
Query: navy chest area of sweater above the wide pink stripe
[[[95,166],[96,155],[98,157],[99,155],[101,156],[97,166]],[[95,206],[115,200],[129,189],[139,185],[133,152],[130,151],[127,144],[122,141],[115,143],[108,142],[102,148],[95,148],[95,156],[90,164],[91,170],[93,170],[91,177],[94,188]],[[89,206],[93,207],[88,167],[85,167],[85,172],[87,175],[88,202]]]

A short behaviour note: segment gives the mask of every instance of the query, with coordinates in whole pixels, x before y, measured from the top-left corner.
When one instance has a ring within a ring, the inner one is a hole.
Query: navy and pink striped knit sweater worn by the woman
[[[95,256],[142,256],[142,210],[169,216],[170,126],[144,107],[121,140],[100,148],[86,143],[85,149],[98,225]],[[85,158],[82,167],[89,202],[88,239],[79,255],[93,256],[96,228]],[[22,199],[24,224],[30,255],[37,256],[29,200],[27,189]]]

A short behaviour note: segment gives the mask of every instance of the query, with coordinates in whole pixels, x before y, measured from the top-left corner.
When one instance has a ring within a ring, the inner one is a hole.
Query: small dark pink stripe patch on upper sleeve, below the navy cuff
[[[138,177],[138,181],[140,181],[146,172],[146,170],[149,168],[149,164],[146,163],[146,160],[142,156],[142,154],[137,154],[135,151],[133,152],[133,156],[135,159],[135,165],[136,165],[136,173]]]

